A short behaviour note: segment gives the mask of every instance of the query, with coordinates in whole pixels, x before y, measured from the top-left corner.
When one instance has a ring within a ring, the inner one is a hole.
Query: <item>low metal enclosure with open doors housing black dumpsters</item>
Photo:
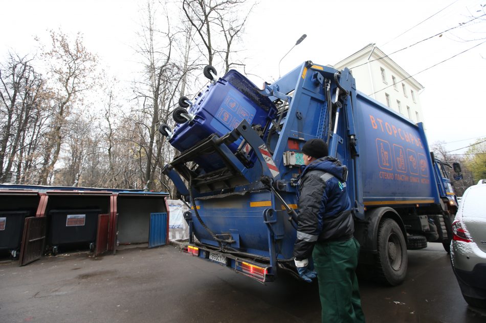
[[[19,264],[27,264],[44,251],[52,252],[53,246],[63,252],[96,246],[96,256],[116,252],[119,239],[164,245],[168,196],[140,190],[0,184],[0,251],[23,251]],[[34,215],[39,221],[28,221]]]

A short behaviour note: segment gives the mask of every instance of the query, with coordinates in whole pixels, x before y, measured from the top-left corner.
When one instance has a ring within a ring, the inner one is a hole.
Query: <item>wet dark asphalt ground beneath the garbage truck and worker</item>
[[[486,321],[462,299],[440,244],[409,251],[396,287],[360,280],[367,322]],[[266,286],[180,253],[172,245],[132,248],[95,259],[44,257],[30,265],[0,259],[0,322],[320,322],[317,284],[282,276]]]

